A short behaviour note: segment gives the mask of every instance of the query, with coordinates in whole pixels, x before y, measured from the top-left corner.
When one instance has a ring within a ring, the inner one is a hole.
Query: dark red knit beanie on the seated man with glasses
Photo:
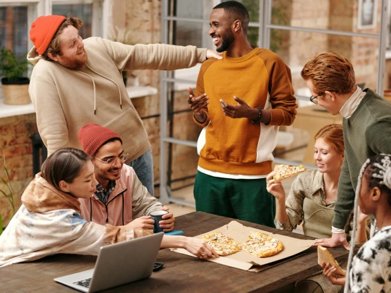
[[[83,151],[91,158],[94,157],[96,151],[98,151],[107,140],[111,140],[112,138],[118,138],[122,144],[122,140],[118,133],[95,123],[88,123],[78,130],[78,141],[83,147]]]

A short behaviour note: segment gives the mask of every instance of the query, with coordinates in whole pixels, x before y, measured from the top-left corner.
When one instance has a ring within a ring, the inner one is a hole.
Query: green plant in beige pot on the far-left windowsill
[[[0,50],[0,75],[3,85],[4,104],[25,105],[30,104],[28,85],[30,80],[25,77],[28,69],[26,58],[17,58],[11,50]]]

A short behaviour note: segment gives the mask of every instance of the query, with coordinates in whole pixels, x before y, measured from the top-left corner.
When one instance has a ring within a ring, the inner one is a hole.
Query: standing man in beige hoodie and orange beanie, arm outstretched
[[[154,169],[147,131],[123,83],[123,70],[193,67],[217,53],[193,46],[124,45],[98,37],[83,40],[76,17],[48,15],[32,23],[34,64],[29,94],[48,155],[63,147],[81,149],[78,129],[94,122],[123,140],[142,185],[154,194]]]

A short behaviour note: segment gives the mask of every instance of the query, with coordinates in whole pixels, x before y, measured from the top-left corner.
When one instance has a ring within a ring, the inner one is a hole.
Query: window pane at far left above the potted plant
[[[27,14],[27,6],[0,7],[0,48],[18,57],[28,52]]]

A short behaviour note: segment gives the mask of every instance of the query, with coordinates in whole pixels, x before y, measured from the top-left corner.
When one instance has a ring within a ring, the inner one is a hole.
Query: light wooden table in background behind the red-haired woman
[[[295,121],[293,122],[293,127],[304,129],[308,131],[310,135],[310,140],[308,142],[306,153],[304,155],[303,163],[309,165],[315,165],[314,160],[314,137],[315,134],[328,124],[342,124],[342,116],[335,115],[332,116],[329,111],[319,111],[325,110],[324,108],[313,105],[309,107],[297,108],[297,114]]]

